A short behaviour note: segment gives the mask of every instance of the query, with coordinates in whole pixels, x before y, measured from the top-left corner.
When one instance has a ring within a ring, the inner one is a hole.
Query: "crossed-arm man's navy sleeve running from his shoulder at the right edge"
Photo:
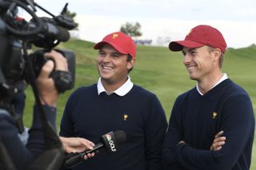
[[[226,144],[219,151],[200,150],[191,147],[189,144],[178,144],[173,146],[172,153],[178,163],[185,168],[195,169],[232,169],[244,152],[250,152],[254,138],[254,113],[250,98],[246,95],[230,97],[226,101],[222,115],[223,136],[226,136]],[[170,136],[172,137],[172,136]],[[186,141],[185,141],[186,142]],[[249,164],[243,165],[250,168],[250,157],[243,156],[242,159],[249,159]]]

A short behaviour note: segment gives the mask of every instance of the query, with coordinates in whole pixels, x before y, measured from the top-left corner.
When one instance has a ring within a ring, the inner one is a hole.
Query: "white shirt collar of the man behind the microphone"
[[[110,95],[112,93],[116,93],[118,96],[125,96],[127,93],[130,92],[130,89],[132,89],[134,86],[134,83],[130,81],[130,77],[128,76],[127,81],[118,89],[116,89],[114,92],[107,92],[106,89],[102,85],[102,79],[101,77],[98,78],[98,84],[97,84],[97,89],[98,89],[98,95],[102,92],[106,92],[106,94]]]

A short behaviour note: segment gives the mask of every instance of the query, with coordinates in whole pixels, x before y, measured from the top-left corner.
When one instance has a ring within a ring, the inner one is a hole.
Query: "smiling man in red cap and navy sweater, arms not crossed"
[[[98,49],[98,83],[71,94],[60,136],[67,152],[81,151],[74,146],[91,148],[110,131],[122,130],[127,137],[118,152],[108,154],[100,150],[73,169],[162,169],[166,115],[156,95],[134,85],[128,76],[136,61],[134,41],[115,32],[106,35],[94,49]],[[79,137],[79,141],[70,137]]]

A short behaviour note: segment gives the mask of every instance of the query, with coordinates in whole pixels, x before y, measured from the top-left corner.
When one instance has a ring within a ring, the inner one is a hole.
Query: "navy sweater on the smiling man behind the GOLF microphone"
[[[74,169],[153,170],[162,169],[166,128],[164,110],[153,93],[134,85],[123,97],[115,93],[98,95],[94,84],[71,94],[60,136],[84,137],[98,144],[106,132],[123,130],[127,139],[118,152],[110,154],[103,149]]]

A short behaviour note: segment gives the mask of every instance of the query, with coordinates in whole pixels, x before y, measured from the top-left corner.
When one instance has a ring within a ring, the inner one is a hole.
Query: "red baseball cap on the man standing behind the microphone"
[[[130,38],[130,36],[122,32],[115,32],[106,35],[106,37],[102,39],[102,42],[98,42],[94,45],[94,49],[100,49],[102,48],[102,45],[106,43],[112,45],[119,53],[130,54],[131,57],[136,57],[135,42]]]

